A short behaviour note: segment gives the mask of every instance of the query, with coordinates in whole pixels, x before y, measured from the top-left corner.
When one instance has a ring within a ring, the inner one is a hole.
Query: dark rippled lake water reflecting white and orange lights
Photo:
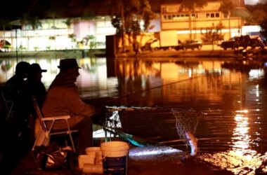
[[[21,60],[21,59],[20,59]],[[48,88],[59,59],[38,62]],[[204,112],[196,128],[197,160],[233,174],[267,173],[267,79],[263,62],[232,59],[78,59],[77,80],[86,102],[103,99],[115,106],[195,109]],[[15,59],[2,59],[0,83],[13,75]],[[107,66],[108,64],[108,66]],[[125,132],[173,148],[186,149],[172,113],[122,113]]]

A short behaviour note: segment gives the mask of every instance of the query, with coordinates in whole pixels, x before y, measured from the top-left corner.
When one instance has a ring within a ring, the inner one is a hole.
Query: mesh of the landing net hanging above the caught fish
[[[171,112],[176,118],[176,130],[180,139],[183,139],[185,142],[187,142],[187,137],[185,134],[190,132],[191,134],[195,135],[197,125],[200,121],[200,118],[203,116],[203,113],[192,109],[187,111],[178,111],[172,109]]]

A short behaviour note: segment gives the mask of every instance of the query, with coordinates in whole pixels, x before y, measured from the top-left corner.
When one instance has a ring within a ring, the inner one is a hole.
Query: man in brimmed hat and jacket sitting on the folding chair
[[[79,130],[77,149],[79,154],[85,153],[85,148],[92,146],[93,128],[91,116],[98,109],[90,104],[85,104],[79,96],[78,87],[75,84],[81,69],[77,60],[61,59],[58,66],[60,72],[51,83],[42,106],[44,117],[70,115],[68,120],[71,129]],[[54,130],[65,129],[65,121],[57,121]]]

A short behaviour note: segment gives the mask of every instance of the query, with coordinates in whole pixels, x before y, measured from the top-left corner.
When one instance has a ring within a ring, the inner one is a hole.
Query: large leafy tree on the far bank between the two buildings
[[[112,25],[122,36],[124,36],[124,32],[128,35],[129,43],[137,54],[140,48],[137,36],[148,31],[151,20],[155,19],[157,15],[152,12],[148,0],[119,0],[117,4],[123,10],[120,10],[115,14],[115,18],[112,18]],[[122,38],[123,40],[124,38]]]

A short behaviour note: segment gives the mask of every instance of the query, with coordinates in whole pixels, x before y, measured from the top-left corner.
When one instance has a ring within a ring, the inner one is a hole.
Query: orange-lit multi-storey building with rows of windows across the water
[[[234,3],[243,4],[240,1]],[[207,6],[196,6],[193,11],[182,8],[181,3],[162,4],[161,29],[176,30],[181,40],[200,39],[207,27],[215,27],[220,23],[223,25],[221,31],[225,39],[242,34],[245,20],[239,16],[221,12],[221,4],[222,1],[208,1]]]

